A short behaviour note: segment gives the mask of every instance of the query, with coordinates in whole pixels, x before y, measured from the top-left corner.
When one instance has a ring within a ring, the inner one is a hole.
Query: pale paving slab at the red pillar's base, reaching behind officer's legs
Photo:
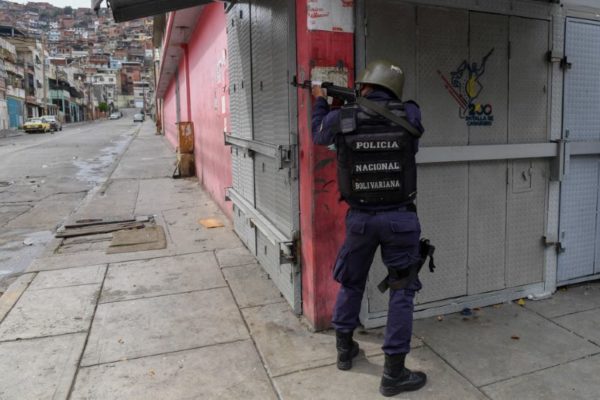
[[[335,363],[333,331],[311,332],[287,303],[245,308],[242,313],[272,377]],[[369,332],[355,335],[362,352],[382,354],[382,331]]]

